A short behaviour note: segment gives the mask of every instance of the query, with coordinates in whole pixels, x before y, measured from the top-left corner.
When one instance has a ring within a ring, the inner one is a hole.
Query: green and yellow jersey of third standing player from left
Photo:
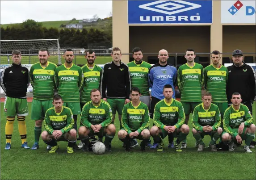
[[[80,102],[80,90],[84,84],[81,67],[76,64],[69,68],[65,64],[60,65],[55,70],[55,84],[64,102]]]

